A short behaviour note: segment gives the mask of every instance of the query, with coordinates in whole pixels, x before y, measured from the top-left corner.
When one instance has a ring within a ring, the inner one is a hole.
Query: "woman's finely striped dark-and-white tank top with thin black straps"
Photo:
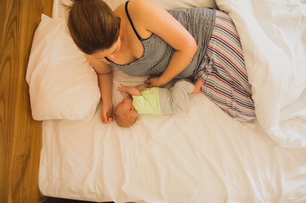
[[[214,27],[216,12],[210,8],[179,8],[169,11],[169,13],[190,32],[198,46],[191,63],[175,78],[195,77],[197,69],[200,68],[204,59],[205,49]],[[128,9],[127,16],[129,18]],[[133,27],[132,19],[130,22]],[[134,31],[137,33],[137,30]],[[111,65],[128,75],[160,76],[167,68],[175,49],[154,33],[148,39],[140,38],[139,40],[144,46],[144,54],[137,61],[127,65],[118,65],[106,59]]]

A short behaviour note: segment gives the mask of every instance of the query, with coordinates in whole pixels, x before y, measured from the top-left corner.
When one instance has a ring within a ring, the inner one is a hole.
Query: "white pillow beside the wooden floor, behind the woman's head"
[[[45,15],[26,72],[35,120],[89,120],[100,101],[97,74],[68,35],[65,19]]]

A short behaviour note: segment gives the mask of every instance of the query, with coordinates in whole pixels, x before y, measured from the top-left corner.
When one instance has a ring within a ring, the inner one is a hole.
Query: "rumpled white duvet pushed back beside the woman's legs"
[[[216,1],[240,33],[262,128],[283,147],[306,147],[306,1]]]

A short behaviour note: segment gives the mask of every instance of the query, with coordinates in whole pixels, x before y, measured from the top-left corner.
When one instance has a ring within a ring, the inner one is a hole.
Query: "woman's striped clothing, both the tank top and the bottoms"
[[[109,63],[128,75],[160,76],[167,68],[175,49],[154,33],[142,39],[143,56],[127,65]],[[255,118],[251,86],[248,83],[239,36],[227,14],[210,8],[174,9],[169,13],[195,38],[197,52],[191,63],[175,78],[204,79],[201,91],[237,120]]]

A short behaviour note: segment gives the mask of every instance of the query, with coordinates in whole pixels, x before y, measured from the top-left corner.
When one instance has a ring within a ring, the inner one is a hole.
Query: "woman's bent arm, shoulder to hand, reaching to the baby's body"
[[[129,3],[129,11],[141,37],[146,39],[155,33],[175,48],[175,53],[164,73],[159,78],[145,81],[149,87],[162,87],[189,65],[197,51],[197,43],[175,18],[153,2],[132,0]]]

